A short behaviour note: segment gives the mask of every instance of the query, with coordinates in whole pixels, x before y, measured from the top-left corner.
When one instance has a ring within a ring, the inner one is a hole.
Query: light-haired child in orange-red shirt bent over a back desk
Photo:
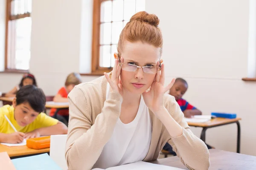
[[[53,98],[53,102],[68,102],[67,95],[72,91],[75,85],[81,83],[81,76],[79,73],[71,73],[67,76],[65,87],[59,89],[58,94],[56,94]],[[52,108],[50,112],[50,116],[54,116],[56,109]],[[58,115],[64,117],[64,119],[68,122],[69,113],[68,109],[62,109],[58,111]]]

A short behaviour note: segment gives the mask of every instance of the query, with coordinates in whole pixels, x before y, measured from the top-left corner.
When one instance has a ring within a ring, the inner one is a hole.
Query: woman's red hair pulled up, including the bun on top
[[[160,28],[158,28],[160,20],[155,14],[148,14],[141,11],[134,14],[130,21],[123,28],[119,42],[117,44],[118,54],[121,54],[123,43],[125,40],[129,42],[141,41],[160,48],[160,56],[162,55],[163,36]]]

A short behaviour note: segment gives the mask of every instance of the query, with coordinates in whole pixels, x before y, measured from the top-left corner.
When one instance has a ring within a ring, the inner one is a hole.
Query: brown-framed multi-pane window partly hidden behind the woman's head
[[[145,0],[94,0],[92,74],[111,71],[122,28],[139,11]]]

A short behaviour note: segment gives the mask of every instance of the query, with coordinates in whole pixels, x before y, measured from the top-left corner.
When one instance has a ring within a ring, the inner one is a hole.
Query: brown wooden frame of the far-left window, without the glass
[[[9,41],[14,41],[10,40],[14,36],[13,31],[9,33],[9,21],[11,20],[18,20],[21,18],[25,17],[31,17],[30,12],[26,12],[24,14],[17,14],[17,15],[12,15],[12,6],[11,6],[12,0],[6,0],[6,28],[5,28],[5,57],[4,57],[4,71],[7,73],[28,73],[29,70],[20,70],[20,69],[12,69],[8,68],[8,52],[9,52]],[[13,43],[12,43],[13,44]]]

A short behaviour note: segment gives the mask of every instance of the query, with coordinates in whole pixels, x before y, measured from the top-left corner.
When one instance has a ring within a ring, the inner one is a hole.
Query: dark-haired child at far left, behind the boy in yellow
[[[24,74],[20,84],[16,85],[11,91],[9,91],[5,96],[6,97],[15,97],[16,93],[18,90],[20,90],[20,88],[22,88],[25,85],[35,85],[36,84],[36,80],[35,80],[35,76],[33,74]]]

